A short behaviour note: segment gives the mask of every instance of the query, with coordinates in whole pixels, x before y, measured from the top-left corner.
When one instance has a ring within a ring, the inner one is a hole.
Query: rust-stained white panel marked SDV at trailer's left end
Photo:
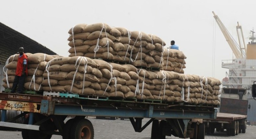
[[[40,105],[33,102],[0,100],[0,109],[40,113]]]

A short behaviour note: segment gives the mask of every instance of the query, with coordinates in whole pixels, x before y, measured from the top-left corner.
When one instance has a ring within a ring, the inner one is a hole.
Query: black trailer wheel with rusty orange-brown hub
[[[93,139],[94,129],[87,119],[77,119],[73,123],[70,132],[71,139]]]

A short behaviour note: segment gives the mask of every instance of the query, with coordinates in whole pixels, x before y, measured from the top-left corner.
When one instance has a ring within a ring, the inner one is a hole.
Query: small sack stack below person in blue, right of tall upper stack
[[[184,73],[186,68],[185,59],[186,56],[182,51],[177,49],[164,48],[163,51],[163,68],[161,70],[175,71],[178,73]]]

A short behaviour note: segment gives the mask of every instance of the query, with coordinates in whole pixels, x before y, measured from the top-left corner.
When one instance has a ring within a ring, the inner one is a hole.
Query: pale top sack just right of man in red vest
[[[41,61],[50,61],[53,57],[43,53],[35,53],[28,57],[28,63],[40,63]]]

